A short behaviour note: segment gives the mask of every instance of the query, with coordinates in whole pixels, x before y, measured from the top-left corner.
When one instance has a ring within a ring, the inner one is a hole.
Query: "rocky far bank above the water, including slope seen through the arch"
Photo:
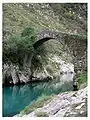
[[[31,69],[26,66],[22,70],[18,65],[4,64],[4,83],[27,83],[36,80],[53,79],[53,77],[62,74],[74,74],[72,56],[67,51],[67,46],[56,40],[47,41],[40,46],[34,53],[31,63]]]

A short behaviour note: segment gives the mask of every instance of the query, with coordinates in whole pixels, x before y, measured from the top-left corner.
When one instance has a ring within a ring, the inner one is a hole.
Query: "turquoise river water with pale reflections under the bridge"
[[[18,114],[42,95],[58,94],[73,90],[73,74],[56,77],[53,81],[3,88],[3,116]]]

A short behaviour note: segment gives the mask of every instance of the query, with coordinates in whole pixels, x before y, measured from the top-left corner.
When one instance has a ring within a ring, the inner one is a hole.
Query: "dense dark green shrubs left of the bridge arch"
[[[25,29],[23,36],[12,36],[9,40],[4,41],[3,44],[3,61],[11,61],[12,63],[23,64],[24,58],[32,54],[34,51],[33,43],[35,42],[34,29],[29,30],[26,34]]]

